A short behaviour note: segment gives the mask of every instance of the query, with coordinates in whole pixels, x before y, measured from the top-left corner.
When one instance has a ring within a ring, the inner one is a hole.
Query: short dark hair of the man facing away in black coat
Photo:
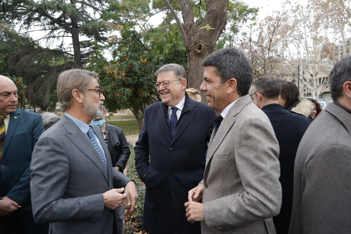
[[[266,99],[277,99],[282,90],[282,82],[272,75],[264,75],[254,82],[253,89],[253,92],[262,93]]]

